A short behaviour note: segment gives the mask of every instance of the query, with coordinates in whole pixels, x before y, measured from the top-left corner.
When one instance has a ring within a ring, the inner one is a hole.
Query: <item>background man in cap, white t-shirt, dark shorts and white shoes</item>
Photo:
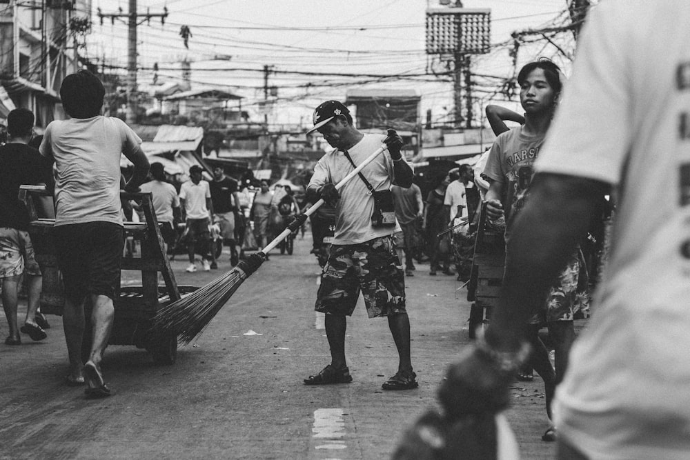
[[[213,222],[213,202],[208,182],[203,179],[203,170],[199,165],[189,168],[189,180],[179,189],[179,202],[182,219],[185,221],[187,255],[189,266],[186,272],[196,272],[195,253],[201,254],[201,265],[204,272],[211,269],[214,261],[210,251],[210,225]]]

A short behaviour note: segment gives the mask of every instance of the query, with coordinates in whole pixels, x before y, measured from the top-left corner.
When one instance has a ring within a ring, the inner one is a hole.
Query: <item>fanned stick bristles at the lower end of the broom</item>
[[[266,259],[263,252],[224,273],[201,288],[161,308],[153,317],[151,332],[157,337],[177,337],[187,345],[199,337],[221,308],[233,297],[237,288]]]

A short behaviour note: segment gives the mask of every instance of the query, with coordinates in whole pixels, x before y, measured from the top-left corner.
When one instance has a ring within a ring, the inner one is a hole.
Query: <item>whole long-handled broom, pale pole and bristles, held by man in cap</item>
[[[339,181],[335,185],[335,189],[340,190],[346,182],[355,177],[359,171],[371,163],[384,150],[386,150],[385,144],[373,152],[361,165],[347,174],[342,181]],[[304,214],[297,216],[265,248],[252,254],[248,259],[240,261],[233,270],[226,272],[206,286],[161,308],[152,319],[152,334],[155,337],[177,337],[177,343],[180,345],[186,345],[196,337],[199,337],[218,311],[230,300],[230,297],[233,297],[233,294],[235,294],[235,291],[244,280],[250,277],[264,263],[266,254],[278,246],[278,243],[286,239],[288,234],[302,226],[306,218],[311,216],[322,204],[324,204],[324,200],[319,199]]]

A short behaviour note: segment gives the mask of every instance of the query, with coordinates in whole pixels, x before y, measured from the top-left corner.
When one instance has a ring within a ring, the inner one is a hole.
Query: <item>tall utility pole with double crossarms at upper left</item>
[[[168,17],[168,8],[163,8],[162,13],[137,14],[137,0],[129,0],[129,12],[124,13],[120,9],[117,13],[105,14],[98,8],[98,17],[101,18],[101,25],[103,18],[110,18],[111,23],[115,23],[116,18],[127,18],[128,34],[127,34],[127,118],[126,123],[137,123],[137,26],[139,24],[150,22],[152,17],[161,18],[161,24],[166,23]],[[138,21],[139,18],[144,18]]]

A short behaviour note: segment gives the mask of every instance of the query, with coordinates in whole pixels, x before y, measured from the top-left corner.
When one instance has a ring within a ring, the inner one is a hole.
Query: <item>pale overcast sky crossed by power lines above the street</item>
[[[128,0],[93,0],[93,12],[128,11]],[[138,28],[138,64],[157,63],[158,82],[179,81],[179,62],[191,61],[193,87],[224,86],[244,97],[242,108],[260,121],[258,103],[264,99],[264,66],[273,66],[269,86],[278,88],[270,123],[311,121],[315,105],[326,99],[345,99],[351,88],[415,89],[422,95],[422,113],[432,110],[442,121],[452,114],[452,83],[439,83],[428,70],[446,64],[425,51],[425,12],[437,0],[139,0],[137,10],[160,13],[168,8],[165,25],[159,18]],[[489,54],[474,57],[477,97],[499,101],[491,95],[508,77],[513,63],[504,43],[511,32],[563,23],[566,0],[465,0],[465,8],[490,8],[492,19]],[[188,49],[179,36],[181,26],[192,34]],[[108,65],[127,66],[126,24],[93,19],[87,54]],[[570,43],[571,44],[571,43]],[[568,46],[569,43],[565,43]],[[518,66],[538,56],[568,61],[544,42],[522,46]],[[169,70],[168,70],[169,69]],[[290,73],[295,72],[295,73]],[[567,70],[566,70],[567,72]],[[321,75],[319,75],[321,74]],[[322,75],[325,74],[325,75]],[[339,74],[409,76],[391,82],[376,77],[339,77]],[[152,83],[152,72],[139,72],[141,88]],[[309,86],[308,86],[309,85]],[[506,106],[515,103],[503,102]]]

